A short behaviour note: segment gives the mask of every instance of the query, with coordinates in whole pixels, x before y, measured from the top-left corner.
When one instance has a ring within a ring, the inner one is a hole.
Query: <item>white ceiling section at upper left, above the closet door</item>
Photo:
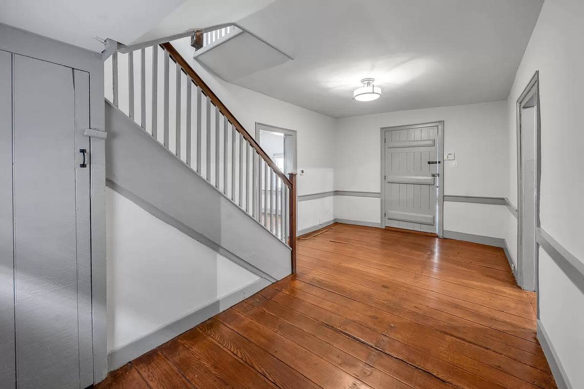
[[[235,22],[274,0],[0,0],[0,23],[102,51]]]

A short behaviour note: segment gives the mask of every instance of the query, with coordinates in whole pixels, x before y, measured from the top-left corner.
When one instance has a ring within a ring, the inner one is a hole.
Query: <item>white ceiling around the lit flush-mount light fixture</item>
[[[332,117],[507,98],[543,0],[277,0],[239,24],[294,58],[235,84]],[[352,99],[360,79],[382,96]]]

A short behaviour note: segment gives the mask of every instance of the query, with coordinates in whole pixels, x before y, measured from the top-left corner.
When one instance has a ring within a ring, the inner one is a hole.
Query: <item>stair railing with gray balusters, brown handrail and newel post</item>
[[[115,52],[105,72],[106,98],[288,244],[295,273],[296,173],[280,171],[171,43]]]

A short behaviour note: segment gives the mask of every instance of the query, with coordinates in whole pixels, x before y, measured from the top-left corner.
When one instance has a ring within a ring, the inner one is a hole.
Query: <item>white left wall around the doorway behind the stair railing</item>
[[[298,131],[299,195],[333,190],[335,119],[223,81],[193,60],[190,38],[172,44],[253,137],[256,122]],[[298,230],[333,217],[331,198],[298,203]]]

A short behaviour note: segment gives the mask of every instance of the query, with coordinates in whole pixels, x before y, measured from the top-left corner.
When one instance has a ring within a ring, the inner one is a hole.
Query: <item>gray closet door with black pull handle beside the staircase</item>
[[[89,85],[79,74],[13,55],[16,378],[23,389],[88,385],[89,168],[79,168],[79,148],[89,150],[82,136]]]

